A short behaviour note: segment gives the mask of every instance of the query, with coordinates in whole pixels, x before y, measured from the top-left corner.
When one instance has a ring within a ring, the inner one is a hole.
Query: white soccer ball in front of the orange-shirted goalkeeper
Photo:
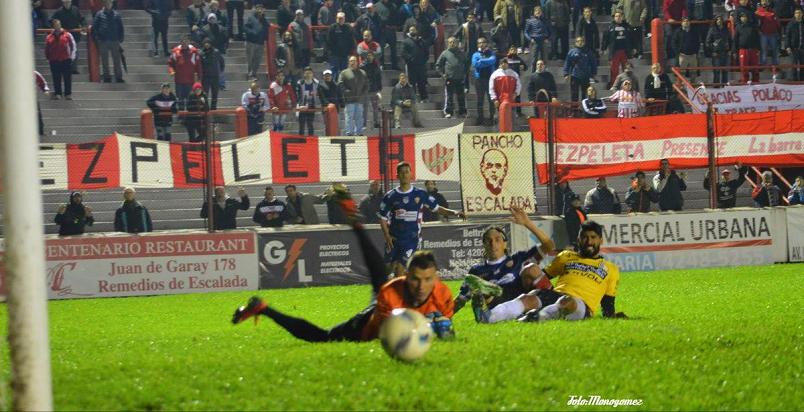
[[[394,309],[380,326],[380,342],[389,356],[414,362],[424,356],[433,341],[430,322],[412,309]]]

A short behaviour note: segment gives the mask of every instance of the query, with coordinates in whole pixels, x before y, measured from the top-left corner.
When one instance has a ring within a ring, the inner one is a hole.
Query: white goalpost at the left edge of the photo
[[[0,175],[12,410],[53,409],[31,8],[0,15]]]

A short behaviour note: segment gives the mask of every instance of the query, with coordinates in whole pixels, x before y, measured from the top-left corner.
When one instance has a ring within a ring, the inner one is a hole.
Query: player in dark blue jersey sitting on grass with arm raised
[[[539,239],[539,246],[508,254],[508,237],[499,227],[490,227],[483,232],[484,261],[472,266],[461,285],[461,291],[455,299],[455,311],[460,310],[472,299],[472,292],[477,291],[478,308],[494,308],[532,289],[551,288],[550,280],[544,275],[539,262],[542,257],[555,248],[553,240],[536,227],[524,210],[511,208],[511,220],[526,227]],[[488,282],[482,282],[485,280]],[[490,283],[489,283],[490,282]],[[478,315],[476,313],[476,315]],[[477,318],[476,318],[477,320]]]

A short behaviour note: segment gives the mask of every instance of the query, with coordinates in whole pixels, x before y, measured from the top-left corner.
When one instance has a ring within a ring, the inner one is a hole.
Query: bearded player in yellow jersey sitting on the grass
[[[472,298],[476,320],[482,323],[513,319],[524,322],[581,320],[594,316],[601,307],[603,317],[626,317],[614,309],[620,270],[600,256],[602,234],[603,227],[594,221],[587,220],[581,225],[577,251],[559,253],[544,269],[549,278],[556,278],[555,288],[533,289],[488,309],[483,307],[483,289],[490,290],[493,284],[478,279],[476,283],[482,286],[473,288]]]

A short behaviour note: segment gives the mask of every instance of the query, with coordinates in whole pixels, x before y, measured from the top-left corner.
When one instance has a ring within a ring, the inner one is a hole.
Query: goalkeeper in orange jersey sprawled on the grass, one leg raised
[[[331,329],[320,328],[304,319],[285,315],[269,307],[261,298],[252,297],[246,306],[238,308],[232,323],[263,315],[271,318],[296,338],[308,342],[367,341],[377,338],[380,325],[391,311],[398,308],[413,309],[434,318],[434,329],[439,337],[452,335],[452,293],[441,283],[435,256],[429,251],[418,251],[408,261],[406,276],[388,278],[383,258],[371,243],[363,226],[355,219],[357,206],[345,192],[339,192],[341,208],[350,218],[352,228],[360,242],[363,257],[371,276],[372,302],[351,319]]]

